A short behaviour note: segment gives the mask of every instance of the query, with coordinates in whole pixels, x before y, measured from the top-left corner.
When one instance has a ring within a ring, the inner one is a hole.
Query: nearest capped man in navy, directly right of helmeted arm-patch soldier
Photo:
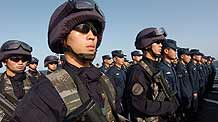
[[[162,47],[162,61],[160,62],[160,69],[163,71],[169,87],[176,94],[179,101],[181,101],[180,84],[178,82],[176,71],[172,60],[176,59],[177,45],[176,41],[172,39],[166,39],[163,42]]]

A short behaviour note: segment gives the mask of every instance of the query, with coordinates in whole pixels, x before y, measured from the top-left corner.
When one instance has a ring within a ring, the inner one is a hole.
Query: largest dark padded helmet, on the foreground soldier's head
[[[51,51],[62,54],[63,41],[78,24],[90,21],[97,29],[97,47],[102,40],[105,18],[93,0],[68,0],[52,14],[48,28],[48,45]]]

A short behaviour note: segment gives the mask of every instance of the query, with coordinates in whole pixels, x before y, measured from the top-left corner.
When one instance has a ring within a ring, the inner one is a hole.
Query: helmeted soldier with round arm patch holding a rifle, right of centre
[[[129,103],[133,122],[161,122],[165,120],[163,116],[171,115],[177,109],[173,101],[156,99],[163,88],[156,82],[157,80],[154,80],[155,74],[159,74],[156,58],[161,55],[161,43],[165,40],[165,36],[163,28],[146,28],[136,37],[135,46],[136,49],[142,50],[143,58],[139,64],[128,70],[128,88],[125,93],[129,95],[126,101]]]

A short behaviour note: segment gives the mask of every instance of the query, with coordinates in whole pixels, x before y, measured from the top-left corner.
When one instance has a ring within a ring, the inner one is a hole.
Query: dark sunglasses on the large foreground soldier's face
[[[73,30],[76,30],[83,34],[87,34],[91,30],[93,35],[97,36],[98,34],[96,28],[91,23],[79,24],[75,26]]]

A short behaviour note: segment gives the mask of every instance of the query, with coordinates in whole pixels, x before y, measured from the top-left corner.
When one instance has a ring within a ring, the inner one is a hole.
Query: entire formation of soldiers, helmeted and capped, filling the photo
[[[0,79],[2,121],[176,122],[197,111],[213,84],[211,60],[206,63],[199,50],[178,48],[163,28],[151,27],[136,36],[135,47],[142,54],[133,64],[124,66],[125,55],[114,50],[113,65],[99,70],[92,61],[104,28],[104,14],[94,1],[64,2],[48,27],[49,48],[64,54],[62,68],[54,71],[50,65],[57,67],[57,62],[47,62],[51,70],[34,78],[28,76],[34,76],[31,68],[38,63],[32,62],[32,47],[6,41],[0,49],[6,66]],[[176,51],[179,60],[172,64]],[[24,72],[27,65],[31,71]]]

